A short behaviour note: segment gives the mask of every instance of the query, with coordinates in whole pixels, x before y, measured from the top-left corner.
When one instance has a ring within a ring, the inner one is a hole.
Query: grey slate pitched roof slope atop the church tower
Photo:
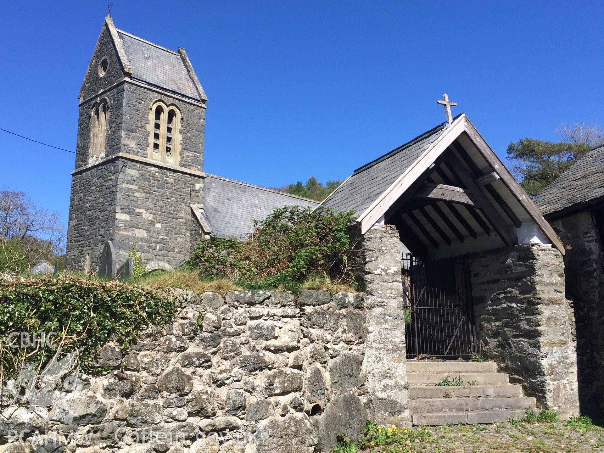
[[[117,30],[117,33],[133,79],[200,100],[180,54],[125,31]]]

